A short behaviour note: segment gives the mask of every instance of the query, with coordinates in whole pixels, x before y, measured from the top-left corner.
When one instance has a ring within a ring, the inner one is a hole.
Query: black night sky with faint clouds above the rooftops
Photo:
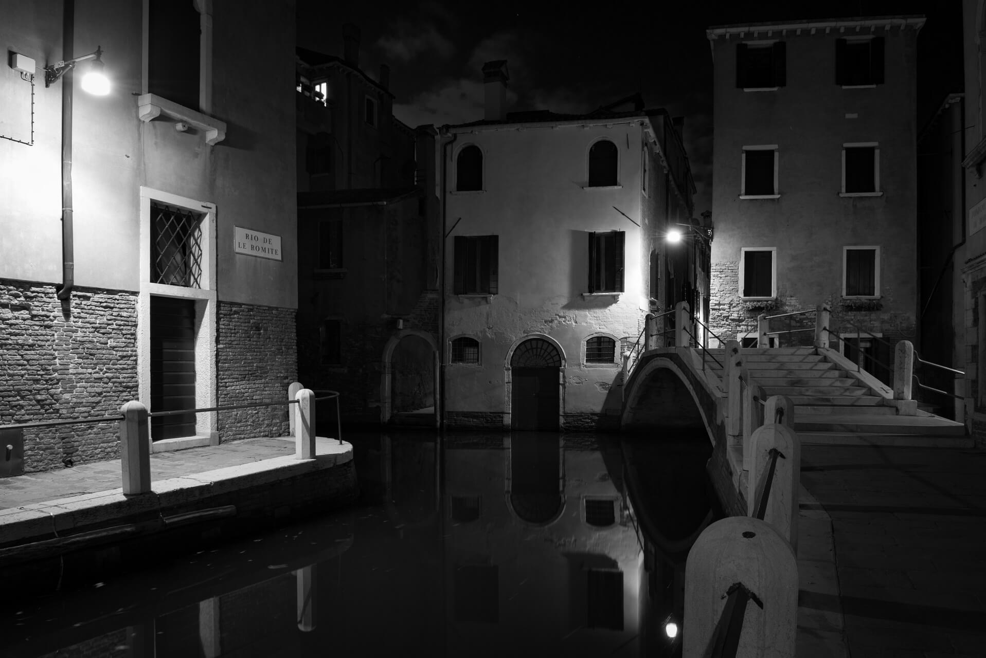
[[[578,9],[576,9],[578,7]],[[813,8],[812,8],[813,7]],[[698,187],[712,201],[710,26],[921,14],[918,127],[961,91],[961,4],[954,0],[819,3],[325,2],[298,0],[298,44],[342,54],[342,24],[362,32],[360,67],[390,66],[394,114],[411,127],[482,118],[480,67],[508,60],[510,110],[585,112],[640,91],[648,107],[685,116]]]

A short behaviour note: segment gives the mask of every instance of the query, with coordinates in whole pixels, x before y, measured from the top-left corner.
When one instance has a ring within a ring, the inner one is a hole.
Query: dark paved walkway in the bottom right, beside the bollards
[[[986,656],[986,451],[802,447],[799,658]]]

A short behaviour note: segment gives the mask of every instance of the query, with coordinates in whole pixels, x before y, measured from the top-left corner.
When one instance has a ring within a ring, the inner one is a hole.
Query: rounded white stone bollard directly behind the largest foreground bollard
[[[798,553],[798,494],[801,489],[801,440],[794,429],[772,423],[753,432],[750,441],[747,513],[756,516],[770,472],[770,451],[780,454],[774,467],[763,520],[774,526]]]

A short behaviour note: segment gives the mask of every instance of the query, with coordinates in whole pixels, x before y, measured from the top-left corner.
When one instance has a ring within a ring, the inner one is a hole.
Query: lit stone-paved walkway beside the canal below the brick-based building
[[[294,451],[294,437],[280,436],[247,438],[215,446],[155,452],[151,454],[151,482],[282,457],[293,454]],[[120,487],[122,473],[119,460],[0,478],[0,509],[77,494],[95,494]]]

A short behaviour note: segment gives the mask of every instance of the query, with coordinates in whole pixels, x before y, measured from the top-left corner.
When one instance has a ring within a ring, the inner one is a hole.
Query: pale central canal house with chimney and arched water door
[[[679,128],[640,99],[507,112],[506,62],[483,73],[485,118],[439,136],[445,423],[614,428],[622,353],[696,280],[664,239],[692,218]]]

